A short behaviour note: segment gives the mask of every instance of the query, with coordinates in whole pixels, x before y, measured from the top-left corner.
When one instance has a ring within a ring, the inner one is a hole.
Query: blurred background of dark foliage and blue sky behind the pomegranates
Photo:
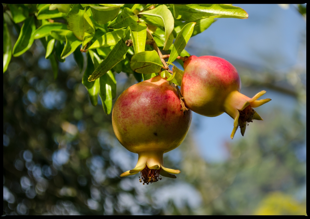
[[[91,105],[72,55],[56,80],[39,40],[12,57],[3,75],[3,214],[305,215],[306,14],[297,5],[236,6],[247,20],[218,19],[186,50],[230,61],[243,94],[266,90],[264,121],[231,140],[228,115],[193,114],[184,142],[164,155],[181,173],[151,185],[119,177],[138,156],[117,141],[100,98]],[[137,83],[115,74],[117,96]]]

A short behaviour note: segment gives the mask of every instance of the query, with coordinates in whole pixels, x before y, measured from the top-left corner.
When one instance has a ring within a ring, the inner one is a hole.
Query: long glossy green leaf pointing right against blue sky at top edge
[[[195,21],[207,17],[213,18],[248,18],[248,14],[240,7],[226,4],[189,4],[175,6],[182,16],[182,20]]]

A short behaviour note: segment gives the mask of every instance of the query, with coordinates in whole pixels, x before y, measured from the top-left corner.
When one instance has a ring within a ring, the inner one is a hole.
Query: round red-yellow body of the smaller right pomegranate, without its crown
[[[225,59],[189,56],[184,62],[181,93],[195,113],[209,117],[224,113],[224,100],[230,92],[240,89],[237,69]]]

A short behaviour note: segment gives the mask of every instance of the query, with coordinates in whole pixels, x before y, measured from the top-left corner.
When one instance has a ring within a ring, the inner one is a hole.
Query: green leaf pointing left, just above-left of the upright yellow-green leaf
[[[138,17],[129,9],[124,8],[109,25],[110,29],[122,29],[137,23]]]

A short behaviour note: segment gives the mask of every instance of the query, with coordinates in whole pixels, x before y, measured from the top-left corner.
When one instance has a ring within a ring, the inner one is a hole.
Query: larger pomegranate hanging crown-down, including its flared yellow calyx
[[[164,167],[163,154],[184,140],[192,112],[181,111],[175,87],[160,75],[125,90],[115,102],[112,124],[118,141],[129,151],[139,154],[134,169],[121,174],[130,176],[141,171],[140,182],[152,183],[164,177],[176,178],[179,170]]]

